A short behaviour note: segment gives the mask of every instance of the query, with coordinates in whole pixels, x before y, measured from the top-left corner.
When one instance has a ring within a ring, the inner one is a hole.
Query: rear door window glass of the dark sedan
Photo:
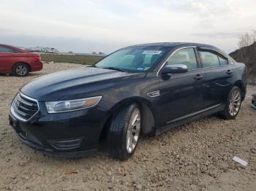
[[[219,58],[217,55],[208,51],[199,51],[199,52],[202,58],[203,68],[219,66]]]

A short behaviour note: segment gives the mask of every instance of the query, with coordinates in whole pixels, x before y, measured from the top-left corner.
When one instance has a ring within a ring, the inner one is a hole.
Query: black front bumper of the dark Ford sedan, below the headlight
[[[75,112],[48,114],[39,102],[39,112],[28,121],[15,117],[10,110],[10,126],[29,147],[50,155],[81,157],[97,149],[108,112],[97,106]]]

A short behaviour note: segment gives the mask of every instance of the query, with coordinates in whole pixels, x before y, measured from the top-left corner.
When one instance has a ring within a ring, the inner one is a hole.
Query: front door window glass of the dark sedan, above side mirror
[[[188,70],[197,69],[197,59],[193,48],[184,48],[175,52],[167,61],[167,65],[184,64]]]

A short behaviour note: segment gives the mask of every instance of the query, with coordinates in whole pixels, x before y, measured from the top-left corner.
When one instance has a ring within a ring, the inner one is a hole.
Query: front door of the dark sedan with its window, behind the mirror
[[[205,71],[200,69],[197,61],[195,47],[184,47],[176,50],[165,63],[187,65],[188,71],[184,74],[170,74],[170,78],[159,77],[159,98],[155,106],[160,126],[187,118],[189,114],[202,109]]]

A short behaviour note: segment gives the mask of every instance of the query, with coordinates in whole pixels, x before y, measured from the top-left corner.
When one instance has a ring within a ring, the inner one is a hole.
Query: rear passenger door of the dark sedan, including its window
[[[233,76],[232,67],[224,55],[214,50],[198,49],[200,61],[206,71],[206,81],[203,83],[204,108],[217,106],[226,101]]]

